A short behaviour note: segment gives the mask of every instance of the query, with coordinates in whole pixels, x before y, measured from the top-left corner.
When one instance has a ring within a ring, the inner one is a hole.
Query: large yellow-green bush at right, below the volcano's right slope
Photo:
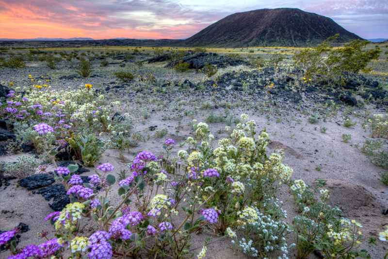
[[[346,73],[357,74],[379,57],[381,51],[378,47],[364,50],[368,41],[354,40],[342,48],[334,48],[331,42],[338,36],[329,37],[317,47],[294,55],[295,64],[305,70],[306,78],[344,84]]]

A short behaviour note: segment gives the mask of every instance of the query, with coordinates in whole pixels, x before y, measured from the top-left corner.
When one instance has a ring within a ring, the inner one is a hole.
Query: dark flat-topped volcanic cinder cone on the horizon
[[[186,46],[313,46],[339,34],[338,42],[361,39],[331,18],[294,8],[260,9],[227,16],[194,36]]]

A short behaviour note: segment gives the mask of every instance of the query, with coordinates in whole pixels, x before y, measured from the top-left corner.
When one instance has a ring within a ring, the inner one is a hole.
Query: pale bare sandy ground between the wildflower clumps
[[[293,178],[304,179],[308,184],[312,184],[317,178],[327,180],[327,187],[332,193],[333,204],[339,205],[349,218],[355,218],[364,225],[364,233],[367,236],[376,237],[377,233],[388,224],[388,216],[381,213],[382,208],[388,208],[388,188],[379,181],[381,168],[374,166],[367,156],[356,148],[357,144],[362,145],[365,138],[370,137],[369,132],[361,127],[361,121],[352,127],[345,128],[342,125],[341,117],[333,117],[326,122],[310,124],[307,117],[291,112],[288,117],[283,117],[283,122],[277,123],[274,118],[260,115],[258,112],[251,113],[242,108],[233,110],[233,113],[241,114],[245,112],[250,115],[250,119],[257,122],[258,129],[266,128],[273,142],[270,144],[271,150],[282,149],[285,152],[285,163],[294,170]],[[151,138],[146,142],[139,142],[139,146],[126,152],[124,155],[130,161],[137,152],[147,150],[154,154],[162,154],[162,143],[165,138],[171,137],[182,140],[190,136],[191,119],[183,118],[176,120],[161,120],[163,112],[153,112],[151,117],[135,125],[133,131],[150,134]],[[195,118],[198,121],[204,120],[208,115],[207,111],[200,111]],[[298,117],[299,120],[293,120]],[[357,118],[354,119],[357,121]],[[168,129],[165,138],[154,138],[153,132],[149,132],[148,127],[158,125],[158,129]],[[327,131],[321,133],[320,126],[325,126]],[[219,130],[224,128],[224,123],[210,123],[211,131],[216,140],[223,138],[224,133],[219,134]],[[351,134],[349,143],[342,141],[342,134]],[[176,148],[175,151],[178,151]],[[15,159],[15,155],[0,157],[0,161]],[[116,170],[126,167],[118,158],[115,150],[108,150],[103,155],[101,162],[112,163]],[[317,170],[320,168],[320,171]],[[94,173],[95,169],[83,175]],[[115,190],[112,190],[115,194]],[[111,195],[112,197],[114,197]],[[293,216],[292,197],[287,190],[280,191],[280,199],[285,202],[285,208],[289,212],[289,221]],[[116,197],[117,198],[117,197]],[[21,234],[20,247],[30,243],[39,243],[37,233],[44,229],[51,229],[49,223],[43,218],[52,210],[48,202],[39,194],[32,194],[25,188],[17,187],[16,180],[11,181],[11,185],[0,190],[0,229],[10,229],[20,222],[28,224],[30,231]],[[193,237],[193,247],[201,247],[204,236],[201,234]],[[215,238],[215,237],[213,237]],[[292,239],[290,237],[290,242]],[[366,245],[372,258],[382,258],[386,253],[386,248],[382,242],[377,242],[377,246]],[[293,252],[293,251],[292,251]],[[0,253],[0,258],[6,258],[7,253]],[[290,253],[290,258],[293,258]],[[233,254],[230,249],[230,241],[222,240],[208,246],[207,258],[244,258],[243,255]]]

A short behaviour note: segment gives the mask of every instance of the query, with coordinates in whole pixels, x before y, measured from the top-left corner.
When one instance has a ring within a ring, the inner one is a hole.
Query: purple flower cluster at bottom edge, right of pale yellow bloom
[[[111,234],[105,231],[97,231],[89,237],[89,259],[110,259],[112,258],[112,245],[108,242]]]

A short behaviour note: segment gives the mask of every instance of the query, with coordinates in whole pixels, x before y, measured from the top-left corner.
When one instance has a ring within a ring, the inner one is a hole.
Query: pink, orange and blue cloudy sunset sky
[[[0,0],[0,38],[183,39],[227,15],[279,7],[388,38],[388,0]]]

